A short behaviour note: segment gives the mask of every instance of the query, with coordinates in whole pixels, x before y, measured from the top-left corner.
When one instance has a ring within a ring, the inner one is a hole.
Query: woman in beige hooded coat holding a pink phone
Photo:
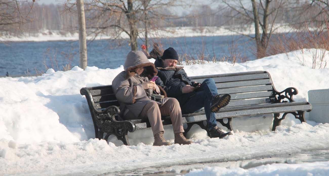
[[[190,144],[184,135],[182,111],[175,98],[151,99],[151,94],[160,94],[162,88],[149,81],[158,71],[142,51],[128,53],[123,66],[112,82],[116,99],[120,103],[119,117],[124,120],[148,118],[154,136],[153,145],[171,145],[164,137],[161,115],[170,116],[175,135],[175,143]],[[164,93],[164,90],[162,89]]]

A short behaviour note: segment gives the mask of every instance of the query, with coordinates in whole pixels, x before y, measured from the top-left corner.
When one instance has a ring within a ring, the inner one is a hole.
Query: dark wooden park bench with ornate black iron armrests
[[[298,93],[296,88],[287,88],[278,92],[274,86],[271,76],[266,71],[252,71],[241,73],[229,73],[207,76],[190,77],[196,82],[202,83],[207,78],[213,78],[216,83],[218,94],[231,94],[230,103],[216,113],[216,120],[230,130],[232,128],[232,117],[250,116],[259,114],[274,114],[272,130],[280,125],[281,120],[291,113],[301,122],[305,122],[305,111],[310,112],[312,105],[308,102],[296,102],[292,99]],[[96,86],[82,88],[81,95],[85,95],[92,120],[95,127],[95,137],[108,140],[110,135],[115,135],[125,145],[128,141],[128,131],[150,128],[148,119],[119,121],[117,115],[120,110],[112,86]],[[279,118],[280,113],[283,113]],[[224,123],[223,119],[228,122]],[[197,124],[207,130],[206,115],[204,111],[192,114],[183,114],[183,123],[187,123],[184,129],[186,136],[192,125]],[[169,117],[162,117],[163,125],[171,125]],[[209,134],[208,134],[209,136]]]

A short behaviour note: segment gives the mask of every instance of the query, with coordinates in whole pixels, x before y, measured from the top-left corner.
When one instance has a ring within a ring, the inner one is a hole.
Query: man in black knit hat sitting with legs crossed
[[[231,132],[224,133],[217,127],[215,117],[215,113],[230,102],[231,95],[219,95],[212,78],[206,79],[201,85],[194,82],[187,76],[184,67],[176,66],[177,62],[178,54],[171,47],[164,50],[162,56],[157,57],[154,63],[159,76],[156,84],[165,90],[168,97],[178,100],[183,114],[196,113],[204,107],[210,138],[231,135]]]

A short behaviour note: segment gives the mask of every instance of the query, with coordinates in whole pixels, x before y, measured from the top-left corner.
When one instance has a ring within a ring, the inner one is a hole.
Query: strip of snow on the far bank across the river
[[[290,28],[289,26],[286,26],[284,24],[280,24],[281,27],[279,27],[279,24],[275,27],[275,31],[277,33],[286,33],[286,32],[293,32],[294,29]],[[214,27],[214,26],[206,26],[206,27],[168,27],[159,29],[156,31],[150,31],[149,37],[153,38],[171,38],[171,37],[194,37],[194,36],[227,36],[227,35],[235,35],[237,33],[232,32],[238,30],[238,28],[234,28],[231,30],[231,27],[229,26],[222,26],[222,27]],[[140,29],[139,31],[143,31],[143,29]],[[245,35],[253,35],[255,34],[255,29],[253,27],[244,27],[242,30],[239,30],[240,34]],[[0,35],[1,36],[1,35]],[[116,36],[116,35],[115,35]],[[140,36],[144,36],[144,34],[141,34]],[[112,39],[113,36],[111,36],[110,32],[109,34],[99,34],[98,36],[94,37],[94,35],[88,35],[87,39],[93,39],[96,40],[99,39]],[[129,38],[129,36],[126,33],[121,34],[121,38]],[[62,31],[50,31],[45,30],[41,31],[37,34],[30,35],[30,34],[22,34],[19,37],[16,36],[9,36],[9,35],[3,35],[0,37],[0,41],[53,41],[53,40],[78,40],[79,39],[79,33],[76,32],[62,32]]]

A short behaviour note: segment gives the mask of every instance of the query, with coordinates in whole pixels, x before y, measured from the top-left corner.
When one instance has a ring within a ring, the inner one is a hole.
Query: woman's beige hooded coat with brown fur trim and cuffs
[[[135,70],[139,67],[145,67],[143,73],[138,75]],[[150,102],[151,97],[146,94],[163,94],[165,91],[157,86],[156,90],[143,89],[142,82],[147,82],[157,75],[158,70],[153,63],[150,63],[142,51],[131,51],[128,53],[123,66],[125,71],[119,73],[112,82],[112,88],[116,99],[120,103],[120,117],[124,118],[125,114],[130,111],[136,117],[139,116],[144,106]],[[167,98],[158,101],[159,105],[164,104]]]

